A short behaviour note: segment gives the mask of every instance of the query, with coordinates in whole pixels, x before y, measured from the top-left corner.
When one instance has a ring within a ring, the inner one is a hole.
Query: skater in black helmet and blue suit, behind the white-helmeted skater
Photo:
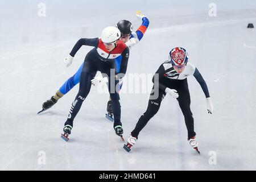
[[[135,46],[137,43],[139,43],[142,40],[145,32],[147,31],[147,27],[149,25],[149,20],[147,19],[147,17],[145,15],[143,15],[141,13],[141,11],[137,11],[136,16],[142,20],[142,24],[141,24],[141,26],[139,26],[139,28],[135,32],[133,31],[133,24],[129,20],[120,20],[117,23],[117,28],[121,32],[120,40],[123,43],[125,43],[126,46],[129,47],[129,49],[131,49],[131,47]],[[72,61],[73,61],[73,57],[68,56],[64,60],[64,63],[67,67],[69,67],[72,64]],[[117,73],[120,72],[121,61],[122,61],[121,55],[115,57]],[[43,108],[42,108],[42,110],[40,110],[38,112],[38,114],[51,108],[53,105],[55,105],[57,103],[57,101],[60,98],[62,98],[65,94],[67,94],[75,85],[79,84],[83,67],[84,67],[84,63],[81,64],[81,66],[79,67],[79,69],[77,70],[75,75],[68,78],[68,80],[66,80],[63,83],[63,85],[55,93],[55,96],[52,96],[49,100],[47,100],[46,102],[43,103],[43,105],[42,105]],[[106,79],[102,78],[101,76],[97,76],[97,77],[93,78],[93,80],[92,80],[93,85],[97,85],[100,82],[106,82]],[[120,84],[120,88],[122,88],[122,81],[120,81],[119,84]],[[114,119],[113,119],[113,109],[112,109],[111,98],[107,104],[107,113],[108,114],[106,114],[106,117],[108,119],[110,119],[110,121],[113,121]]]

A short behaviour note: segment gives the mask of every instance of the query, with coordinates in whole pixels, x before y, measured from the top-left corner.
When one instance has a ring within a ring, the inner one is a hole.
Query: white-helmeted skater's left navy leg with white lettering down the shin
[[[85,69],[86,67],[86,69]],[[68,114],[68,119],[65,122],[65,125],[73,126],[73,120],[79,112],[82,102],[88,96],[91,87],[91,80],[96,75],[96,70],[90,67],[90,64],[85,64],[84,69],[81,73],[79,92],[75,98],[75,101],[72,102],[71,110]]]

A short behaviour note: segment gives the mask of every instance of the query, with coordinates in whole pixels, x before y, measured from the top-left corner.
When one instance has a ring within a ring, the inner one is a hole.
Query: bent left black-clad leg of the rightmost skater
[[[151,96],[152,94],[154,94],[153,91],[154,91],[154,88],[151,92]],[[159,90],[159,94],[156,99],[150,98],[150,100],[148,100],[148,106],[147,106],[146,112],[141,115],[141,118],[139,118],[139,121],[137,122],[135,129],[131,131],[131,135],[133,137],[138,138],[139,132],[143,129],[143,127],[147,125],[147,122],[150,121],[150,119],[154,117],[154,115],[158,112],[161,102],[165,95],[166,93],[164,91]]]

